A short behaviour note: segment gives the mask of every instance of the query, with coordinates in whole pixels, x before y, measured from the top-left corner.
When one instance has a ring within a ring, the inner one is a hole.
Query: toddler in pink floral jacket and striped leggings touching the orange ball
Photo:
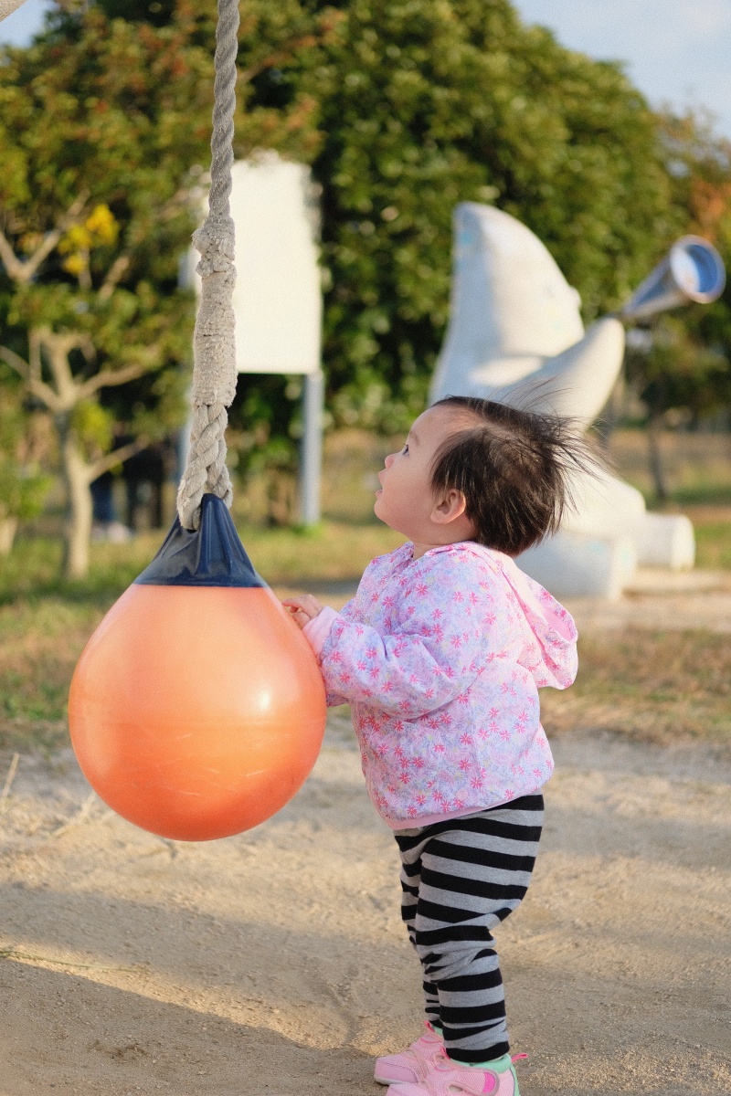
[[[576,672],[573,620],[513,557],[555,532],[591,453],[553,415],[448,397],[379,472],[407,544],[344,609],[284,602],[351,705],[368,792],[401,855],[426,1030],[378,1059],[390,1096],[518,1096],[492,931],[522,901],[553,767],[538,689]]]

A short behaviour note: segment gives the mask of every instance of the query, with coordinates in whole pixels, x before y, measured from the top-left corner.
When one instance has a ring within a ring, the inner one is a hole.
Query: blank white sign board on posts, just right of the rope
[[[310,172],[276,153],[233,164],[239,373],[316,373],[322,297]]]

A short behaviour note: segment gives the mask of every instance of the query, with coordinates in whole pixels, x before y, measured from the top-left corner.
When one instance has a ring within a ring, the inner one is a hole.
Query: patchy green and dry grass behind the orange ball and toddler
[[[619,438],[626,452],[614,443],[618,471],[628,478],[632,469],[637,473],[639,453],[637,438],[629,441]],[[342,594],[374,556],[402,541],[373,517],[374,472],[390,449],[355,432],[330,438],[325,518],[310,532],[247,522],[245,505],[237,500],[243,543],[270,584],[282,592]],[[718,461],[713,467],[718,486],[723,469]],[[703,568],[731,569],[731,460],[729,468],[726,503],[723,495],[715,505],[698,496],[685,510],[696,527]],[[0,560],[0,749],[52,751],[67,742],[66,697],[77,659],[162,536],[144,533],[128,545],[92,545],[90,572],[80,582],[59,578],[60,543],[47,533],[19,537],[10,557]],[[656,742],[729,741],[730,682],[728,637],[644,630],[590,636],[582,641],[573,688],[544,693],[546,726],[552,733],[593,728]]]

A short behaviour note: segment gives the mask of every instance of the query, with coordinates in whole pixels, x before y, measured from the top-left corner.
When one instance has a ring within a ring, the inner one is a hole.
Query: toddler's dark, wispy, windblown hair
[[[442,444],[432,488],[461,491],[475,540],[507,556],[555,533],[573,503],[571,475],[602,466],[570,419],[468,396],[447,396],[434,407],[468,412],[478,421]]]

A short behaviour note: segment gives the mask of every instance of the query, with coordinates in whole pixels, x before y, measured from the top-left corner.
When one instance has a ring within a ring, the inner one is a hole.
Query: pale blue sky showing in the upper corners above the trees
[[[653,105],[703,106],[731,138],[731,0],[513,0],[526,23],[564,46],[623,60]],[[25,0],[0,23],[0,42],[23,45],[46,0]]]

